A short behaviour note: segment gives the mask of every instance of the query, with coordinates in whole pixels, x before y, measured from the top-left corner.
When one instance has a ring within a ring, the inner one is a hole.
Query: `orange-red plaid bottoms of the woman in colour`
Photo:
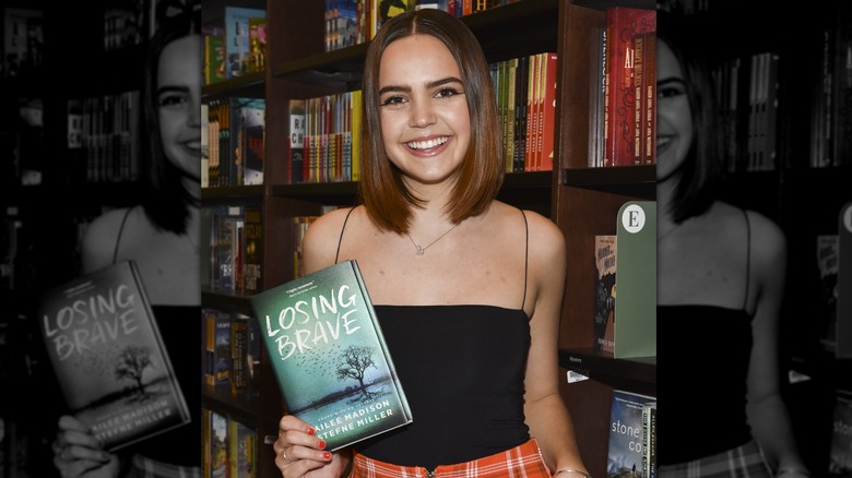
[[[429,473],[422,466],[399,466],[368,458],[357,451],[350,478],[551,478],[539,443],[526,443],[472,462],[440,465]]]

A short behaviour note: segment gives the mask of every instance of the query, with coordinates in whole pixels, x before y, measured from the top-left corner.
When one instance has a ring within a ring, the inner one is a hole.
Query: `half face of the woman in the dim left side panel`
[[[190,178],[201,178],[201,36],[177,39],[163,50],[156,104],[166,157]]]

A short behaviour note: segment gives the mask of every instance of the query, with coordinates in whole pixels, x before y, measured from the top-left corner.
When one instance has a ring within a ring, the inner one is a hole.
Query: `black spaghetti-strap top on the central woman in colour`
[[[525,296],[524,279],[524,301]],[[523,415],[530,323],[523,303],[520,309],[474,304],[375,308],[414,420],[356,443],[360,453],[433,469],[492,455],[530,439]]]

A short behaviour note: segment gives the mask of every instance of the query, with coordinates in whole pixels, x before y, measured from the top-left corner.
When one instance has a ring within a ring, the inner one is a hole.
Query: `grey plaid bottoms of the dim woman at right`
[[[771,478],[772,471],[756,441],[677,465],[659,466],[659,478]]]

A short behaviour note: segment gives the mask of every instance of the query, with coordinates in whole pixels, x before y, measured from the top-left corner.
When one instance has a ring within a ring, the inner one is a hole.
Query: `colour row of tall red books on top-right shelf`
[[[606,9],[591,43],[589,167],[656,163],[656,12]]]

